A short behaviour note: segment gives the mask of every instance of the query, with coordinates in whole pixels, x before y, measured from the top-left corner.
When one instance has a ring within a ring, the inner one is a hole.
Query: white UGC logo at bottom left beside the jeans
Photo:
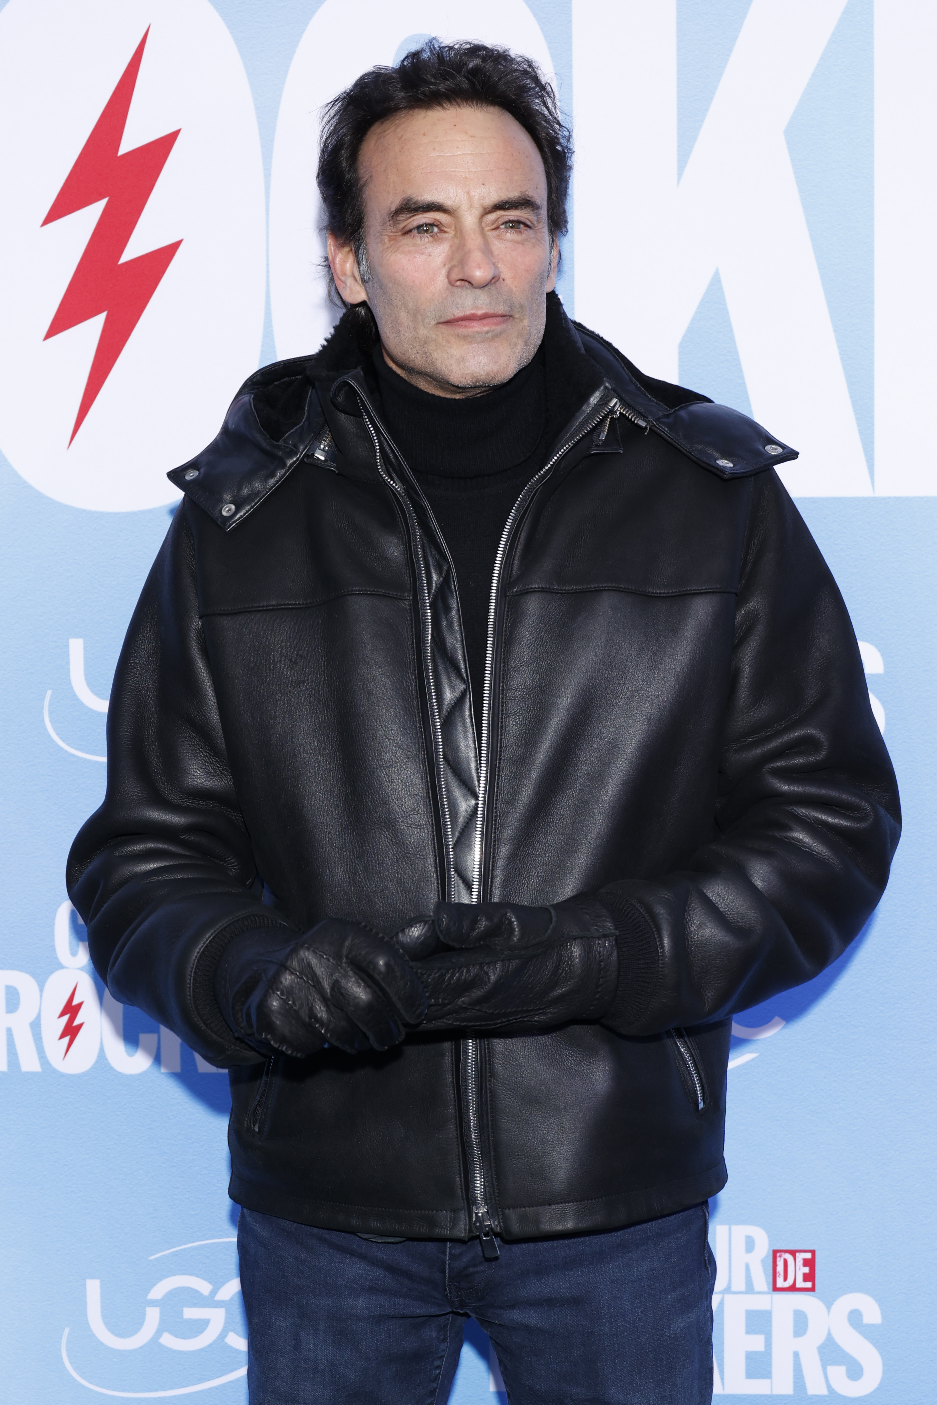
[[[69,1374],[96,1394],[126,1399],[191,1395],[244,1375],[233,1243],[225,1236],[177,1245],[129,1273],[86,1279],[84,1321],[62,1333]]]

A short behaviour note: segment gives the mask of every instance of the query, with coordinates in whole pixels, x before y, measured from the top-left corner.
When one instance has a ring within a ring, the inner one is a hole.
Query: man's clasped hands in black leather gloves
[[[285,941],[233,937],[215,996],[240,1040],[294,1058],[388,1050],[409,1030],[539,1030],[598,1020],[618,985],[615,923],[583,895],[553,908],[437,903],[393,937],[326,917]]]

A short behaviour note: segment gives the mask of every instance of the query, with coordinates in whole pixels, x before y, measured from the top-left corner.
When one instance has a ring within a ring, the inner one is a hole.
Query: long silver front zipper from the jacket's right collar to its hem
[[[492,573],[492,593],[489,596],[487,606],[487,639],[485,645],[485,686],[482,690],[482,736],[479,740],[479,757],[478,757],[478,812],[475,819],[475,863],[472,873],[472,902],[482,901],[482,842],[485,836],[485,802],[487,799],[487,756],[490,743],[490,711],[492,711],[492,677],[494,666],[494,627],[497,622],[497,590],[502,582],[502,570],[504,566],[504,556],[507,555],[507,545],[514,530],[514,524],[523,509],[530,502],[532,493],[537,490],[539,483],[546,478],[552,468],[556,466],[559,459],[569,452],[573,445],[579,444],[580,440],[586,438],[597,424],[603,420],[618,419],[620,414],[625,414],[628,419],[635,420],[638,424],[643,424],[643,420],[638,420],[634,412],[625,409],[625,406],[617,398],[610,403],[603,405],[597,414],[591,416],[589,423],[584,424],[566,444],[559,448],[551,459],[544,464],[538,473],[531,478],[530,483],[525,486],[521,496],[514,503],[511,511],[509,513],[507,521],[504,523],[504,531],[502,532],[502,540],[497,544],[497,555],[494,556],[494,570]],[[486,1257],[497,1257],[497,1242],[494,1239],[494,1232],[492,1227],[492,1217],[489,1214],[486,1194],[485,1194],[485,1168],[482,1163],[482,1138],[479,1132],[479,1090],[478,1090],[478,1061],[479,1061],[479,1041],[476,1038],[466,1038],[464,1041],[465,1052],[465,1124],[466,1124],[466,1141],[469,1144],[469,1170],[472,1177],[472,1222],[475,1225],[475,1232],[482,1241],[482,1252]]]

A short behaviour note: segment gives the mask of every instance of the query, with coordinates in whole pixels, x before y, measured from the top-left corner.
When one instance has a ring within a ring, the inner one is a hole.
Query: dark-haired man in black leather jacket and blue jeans
[[[898,842],[795,454],[566,319],[569,162],[482,45],[330,105],[347,312],[170,475],[70,857],[230,1069],[263,1405],[441,1405],[466,1315],[514,1405],[708,1401],[730,1016]]]

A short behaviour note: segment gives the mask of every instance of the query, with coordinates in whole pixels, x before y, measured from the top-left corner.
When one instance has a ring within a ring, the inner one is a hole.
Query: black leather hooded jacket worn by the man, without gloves
[[[704,1200],[726,1176],[732,1012],[816,975],[885,887],[895,777],[774,473],[794,451],[641,375],[555,298],[546,336],[548,393],[552,375],[582,403],[509,518],[478,726],[448,554],[348,318],[251,377],[170,475],[185,497],[69,892],[112,993],[229,1066],[250,1208],[469,1238],[482,1196],[524,1238]],[[214,1000],[247,927],[392,933],[440,896],[610,887],[625,1035],[417,1030],[264,1064]]]

